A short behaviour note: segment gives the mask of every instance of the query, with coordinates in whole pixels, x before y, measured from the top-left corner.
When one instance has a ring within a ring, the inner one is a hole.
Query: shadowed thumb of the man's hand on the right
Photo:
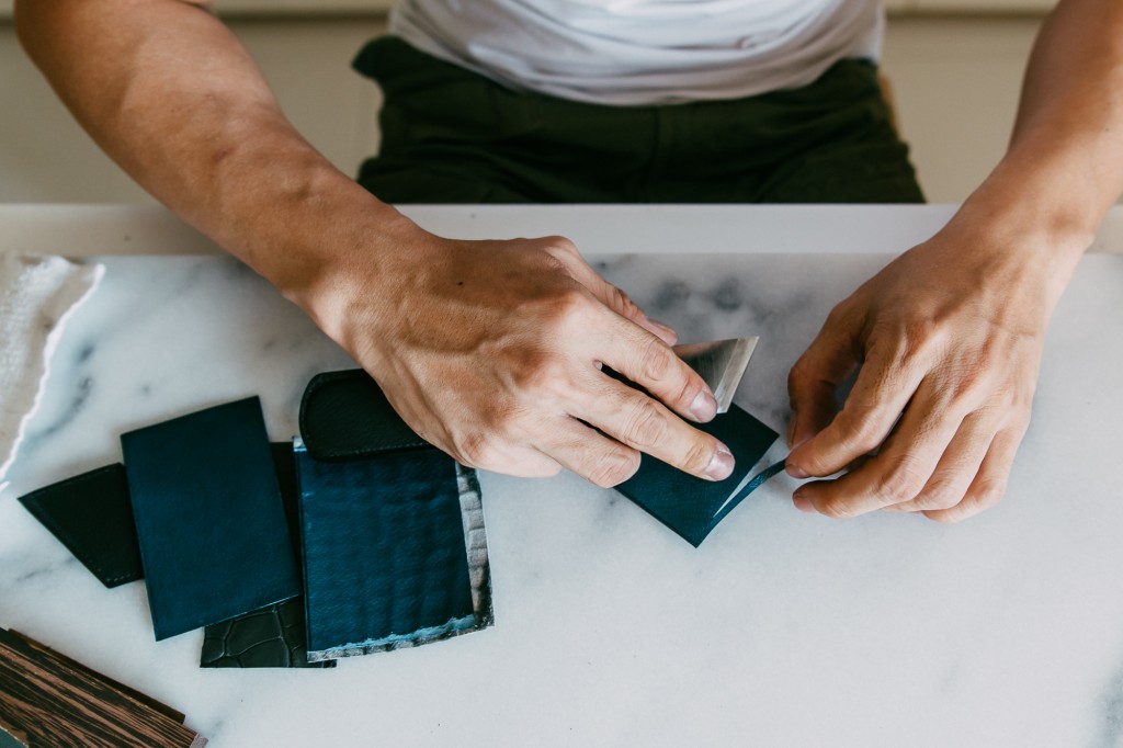
[[[861,362],[860,322],[843,308],[836,308],[806,353],[792,367],[787,377],[792,405],[788,447],[812,438],[834,418],[838,411],[834,393]]]

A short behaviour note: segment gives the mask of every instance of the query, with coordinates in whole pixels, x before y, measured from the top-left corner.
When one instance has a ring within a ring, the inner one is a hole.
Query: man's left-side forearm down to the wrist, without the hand
[[[292,128],[206,6],[24,0],[16,22],[98,144],[283,292],[299,298],[327,254],[403,222]]]

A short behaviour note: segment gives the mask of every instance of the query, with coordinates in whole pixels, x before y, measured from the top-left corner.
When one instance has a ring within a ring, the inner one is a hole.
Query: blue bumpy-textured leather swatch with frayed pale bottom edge
[[[450,457],[428,447],[323,462],[301,441],[295,455],[309,660],[480,627]]]

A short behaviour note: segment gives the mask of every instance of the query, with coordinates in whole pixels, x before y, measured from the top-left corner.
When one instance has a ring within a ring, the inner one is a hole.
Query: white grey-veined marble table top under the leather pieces
[[[568,234],[684,340],[760,335],[737,402],[782,431],[787,370],[829,309],[950,209],[411,212],[459,236]],[[0,491],[0,627],[211,745],[1123,745],[1123,257],[1081,262],[1007,496],[976,519],[807,516],[780,476],[694,549],[573,475],[485,473],[494,628],[328,671],[209,671],[201,631],[154,641],[144,585],[103,589],[16,496],[120,459],[124,431],[249,394],[287,438],[309,378],[353,364],[232,259],[137,256],[211,252],[166,216],[0,210],[2,249],[113,253],[128,231]]]

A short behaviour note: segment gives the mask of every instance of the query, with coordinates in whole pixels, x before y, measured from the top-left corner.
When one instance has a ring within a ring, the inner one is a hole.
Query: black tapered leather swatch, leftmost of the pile
[[[144,576],[129,484],[120,463],[39,489],[19,501],[107,587]]]

